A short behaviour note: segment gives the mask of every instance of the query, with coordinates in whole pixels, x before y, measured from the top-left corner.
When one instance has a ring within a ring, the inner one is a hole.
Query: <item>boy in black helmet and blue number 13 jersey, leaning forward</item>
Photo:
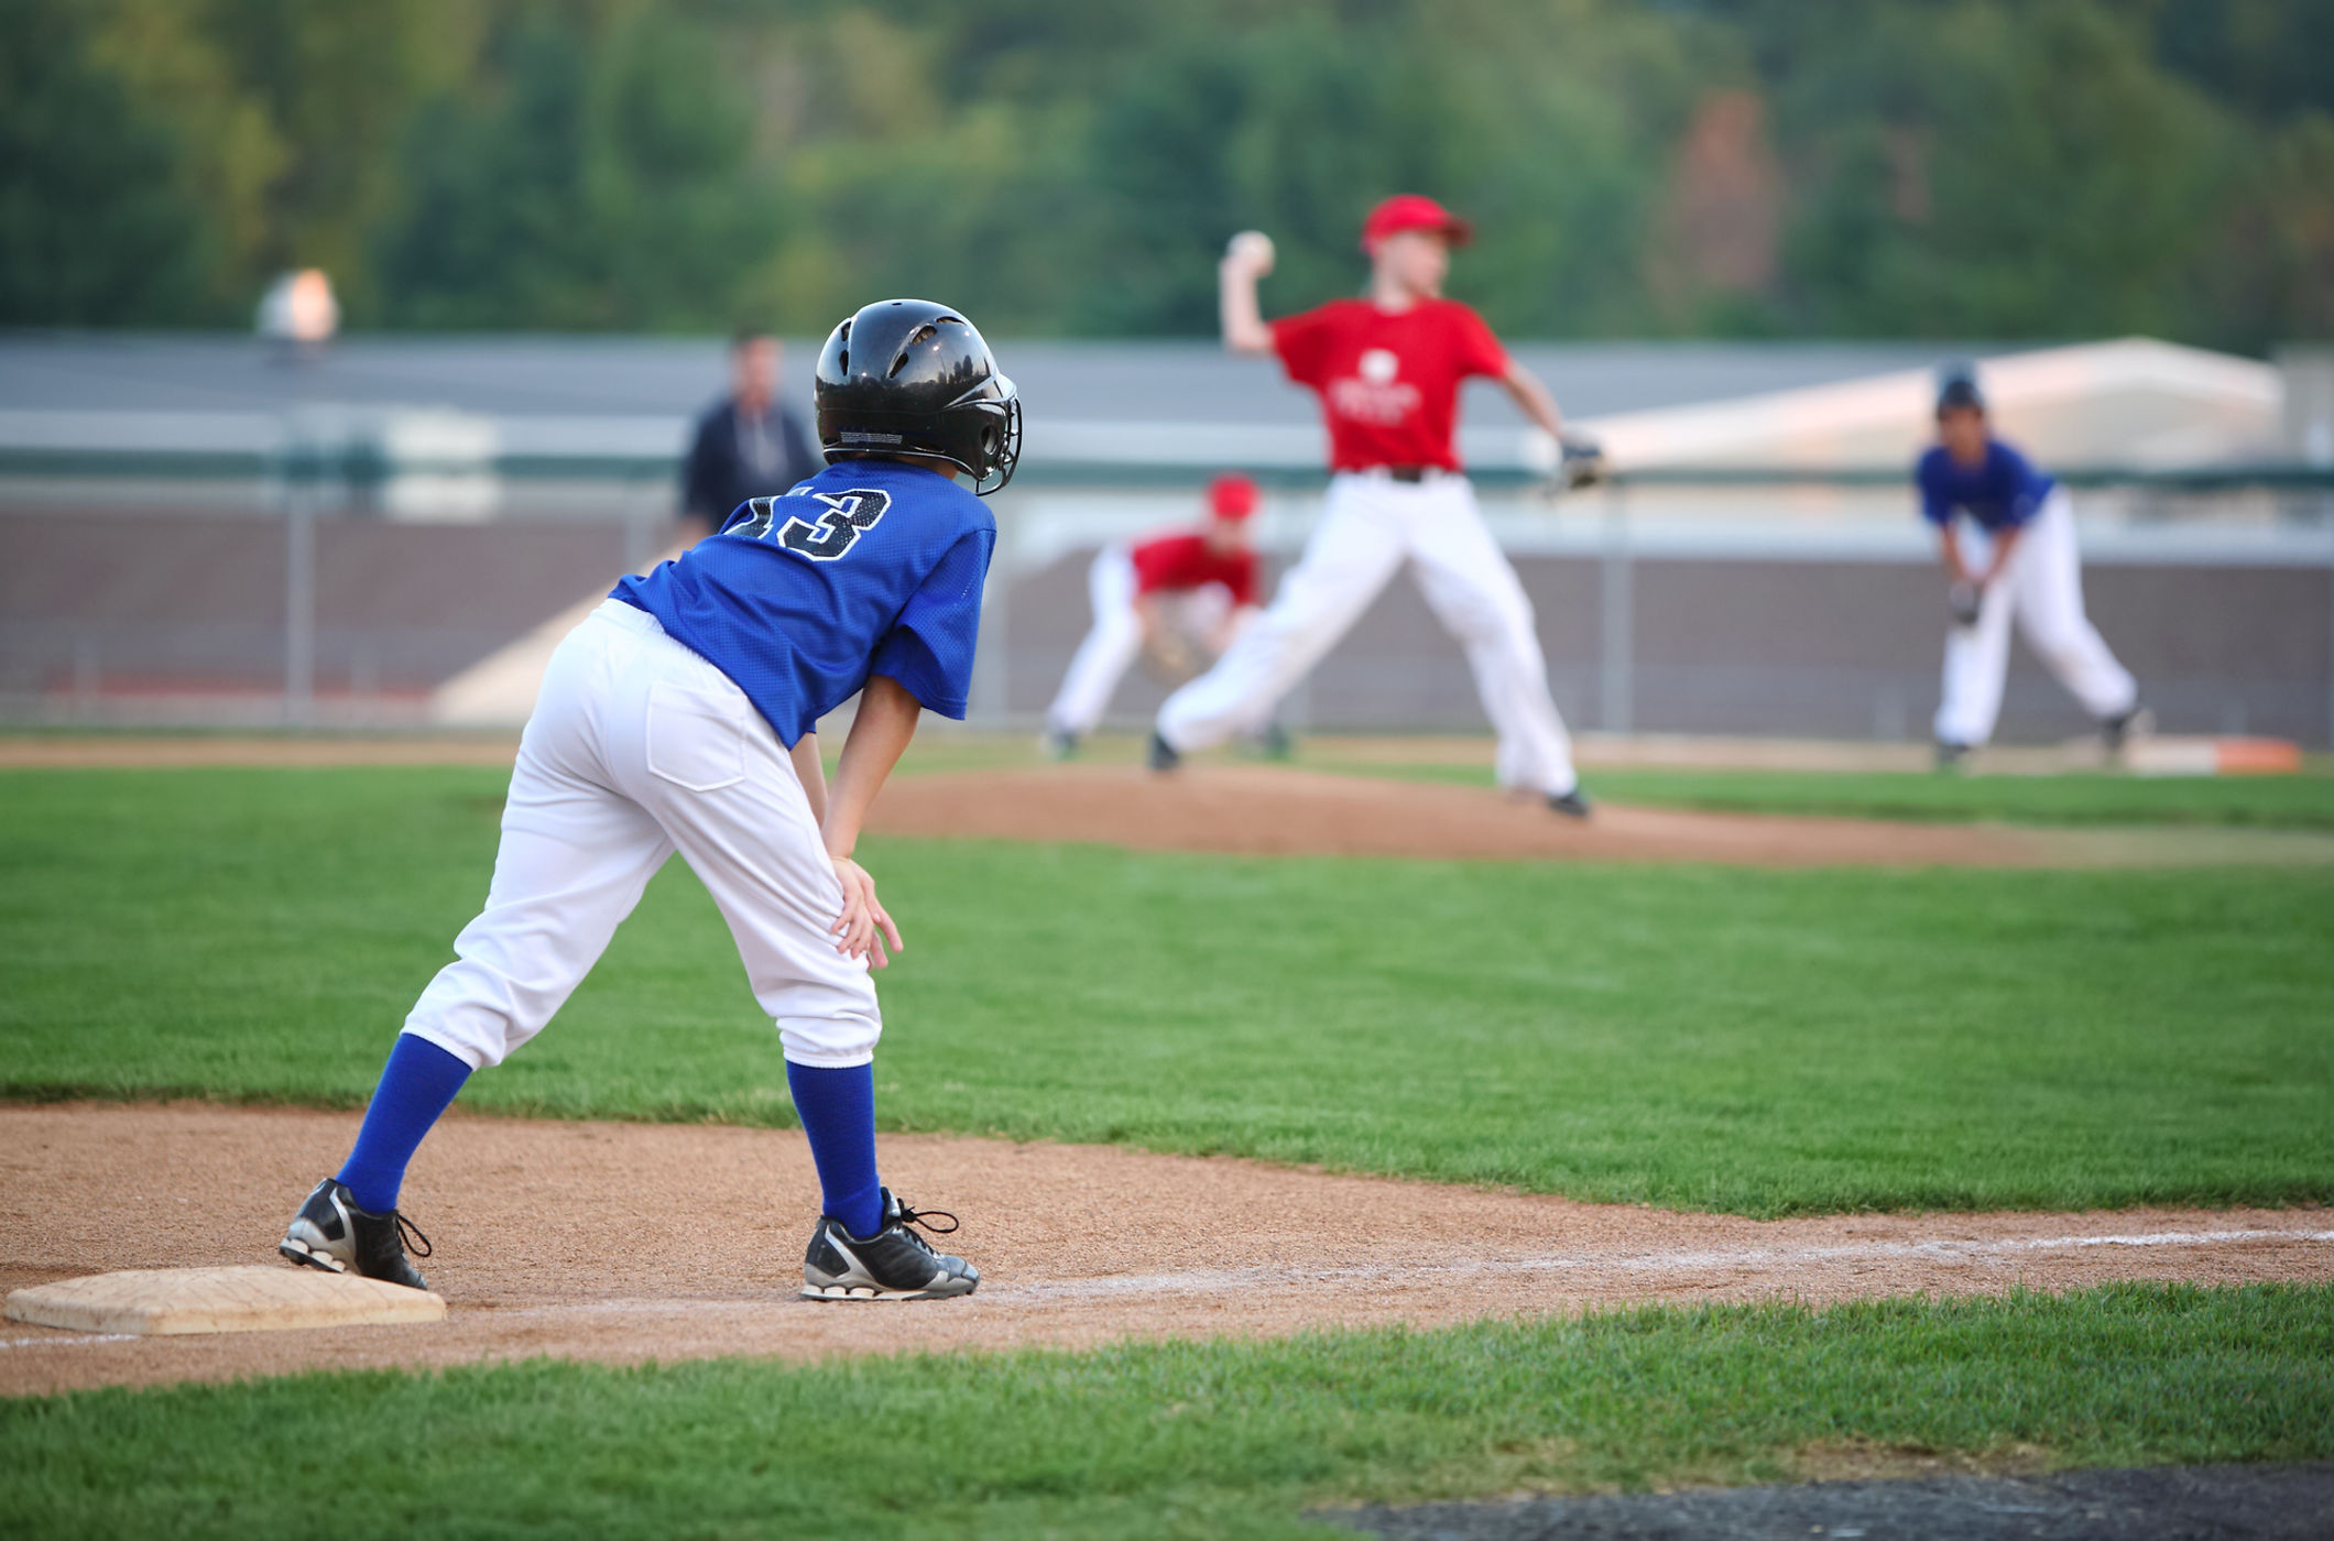
[[[852,850],[917,712],[964,717],[997,542],[976,493],[1013,476],[1020,402],[971,322],[894,299],[826,339],[817,416],[824,472],[616,584],[551,658],[485,911],[406,1016],[355,1149],[282,1256],[422,1289],[404,1237],[429,1244],[397,1212],[422,1135],[474,1069],[544,1030],[679,852],[777,1023],[819,1170],[803,1294],[934,1301],[980,1282],[875,1174],[868,969],[901,939]],[[826,787],[812,728],[854,693]]]

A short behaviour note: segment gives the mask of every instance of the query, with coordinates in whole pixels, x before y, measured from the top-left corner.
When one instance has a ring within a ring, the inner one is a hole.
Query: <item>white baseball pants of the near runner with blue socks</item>
[[[656,616],[602,602],[544,672],[502,808],[495,883],[406,1032],[499,1065],[574,992],[675,850],[728,920],[798,1065],[866,1065],[866,960],[826,929],[843,885],[777,733]]]

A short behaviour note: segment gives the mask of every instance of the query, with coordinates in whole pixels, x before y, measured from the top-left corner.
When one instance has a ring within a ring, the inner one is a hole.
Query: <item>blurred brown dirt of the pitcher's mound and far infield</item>
[[[511,763],[509,735],[149,738],[0,735],[0,770],[336,768]],[[1664,740],[1627,740],[1643,763],[1690,763]],[[1884,745],[1886,747],[1886,745]],[[1743,754],[1725,740],[1718,749]],[[1809,745],[1786,745],[1802,756]],[[1137,850],[1491,862],[1718,862],[1734,866],[2220,866],[2334,864],[2334,834],[2311,829],[2010,829],[1863,817],[1694,813],[1603,803],[1587,824],[1489,787],[1379,780],[1377,763],[1473,763],[1475,740],[1323,740],[1295,766],[1197,763],[1151,775],[1134,763],[999,766],[1027,745],[938,740],[917,749],[875,803],[871,829],[903,836],[1090,841]],[[1713,749],[1715,752],[1715,749]],[[1127,749],[1132,756],[1132,749]],[[1615,763],[1636,763],[1613,752]],[[1683,752],[1680,752],[1683,754]],[[964,759],[973,763],[964,763]],[[1473,756],[1473,759],[1470,759]]]

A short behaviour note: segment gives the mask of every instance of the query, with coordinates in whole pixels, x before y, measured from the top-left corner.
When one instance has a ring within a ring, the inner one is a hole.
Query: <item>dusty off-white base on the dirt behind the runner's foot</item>
[[[133,1268],[9,1291],[7,1315],[82,1333],[273,1333],[441,1322],[446,1301],[315,1268]]]

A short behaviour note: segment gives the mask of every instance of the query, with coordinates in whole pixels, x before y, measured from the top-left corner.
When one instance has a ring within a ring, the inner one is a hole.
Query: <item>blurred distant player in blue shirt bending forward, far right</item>
[[[1993,738],[2010,672],[2010,621],[2075,700],[2122,749],[2138,714],[2138,686],[2082,612],[2082,558],[2066,488],[1996,439],[1968,371],[1937,390],[1937,446],[1914,469],[1921,516],[1937,528],[1947,609],[1937,763],[1954,766]],[[1963,553],[1954,516],[1986,537],[1982,560]]]

